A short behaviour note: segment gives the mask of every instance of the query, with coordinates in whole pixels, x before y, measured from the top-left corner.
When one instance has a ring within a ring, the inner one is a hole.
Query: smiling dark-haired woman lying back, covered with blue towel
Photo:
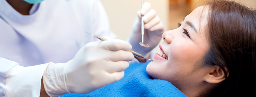
[[[154,62],[130,64],[118,82],[63,97],[256,96],[255,10],[209,1],[162,38]]]

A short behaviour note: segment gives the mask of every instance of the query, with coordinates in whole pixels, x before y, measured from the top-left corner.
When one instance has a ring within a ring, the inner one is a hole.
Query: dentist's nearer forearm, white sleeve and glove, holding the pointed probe
[[[128,42],[112,39],[86,44],[67,63],[23,67],[0,58],[0,82],[3,84],[0,84],[0,95],[55,97],[71,92],[87,94],[124,76],[128,61],[134,59],[129,52],[131,49]]]

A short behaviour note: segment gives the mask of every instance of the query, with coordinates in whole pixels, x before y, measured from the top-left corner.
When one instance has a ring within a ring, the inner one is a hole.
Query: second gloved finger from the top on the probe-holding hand
[[[132,61],[134,59],[134,55],[132,52],[119,50],[111,52],[108,59],[111,61]]]

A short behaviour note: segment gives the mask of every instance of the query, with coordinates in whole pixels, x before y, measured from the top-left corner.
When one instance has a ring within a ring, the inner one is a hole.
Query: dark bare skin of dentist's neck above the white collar
[[[33,6],[23,0],[6,0],[15,10],[22,15],[29,15],[29,10]]]

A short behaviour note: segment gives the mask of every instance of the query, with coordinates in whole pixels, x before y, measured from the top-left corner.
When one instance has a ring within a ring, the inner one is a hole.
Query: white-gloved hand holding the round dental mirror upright
[[[163,23],[157,16],[154,9],[150,9],[151,4],[145,2],[141,10],[137,12],[137,17],[134,21],[131,35],[128,42],[133,46],[133,51],[142,54],[144,57],[158,45],[162,39]],[[147,43],[150,47],[146,48],[139,43],[142,42],[141,37],[141,17],[144,21],[144,43]]]

